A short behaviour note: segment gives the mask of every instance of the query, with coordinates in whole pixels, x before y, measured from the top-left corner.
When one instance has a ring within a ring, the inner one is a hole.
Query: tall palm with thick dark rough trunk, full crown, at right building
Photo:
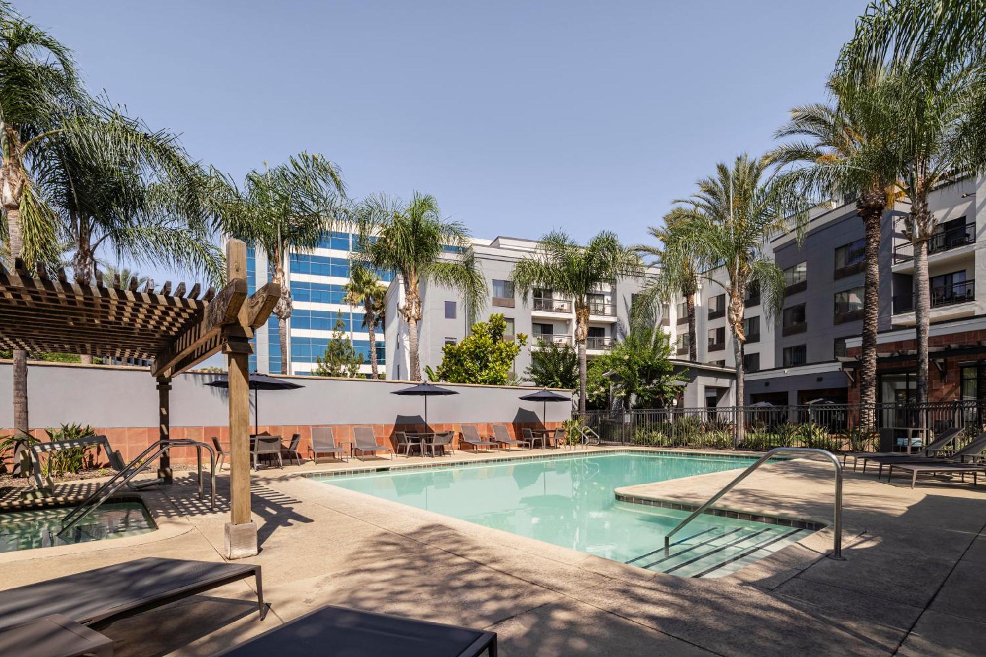
[[[872,426],[877,403],[877,325],[880,313],[880,223],[883,212],[900,195],[897,163],[887,149],[885,135],[896,117],[873,92],[877,75],[855,93],[843,93],[847,84],[832,79],[828,90],[835,105],[816,103],[791,110],[790,120],[775,138],[802,137],[767,154],[781,167],[795,165],[782,176],[805,189],[815,200],[852,196],[866,230],[863,298],[863,353],[860,402],[871,409],[860,414]]]

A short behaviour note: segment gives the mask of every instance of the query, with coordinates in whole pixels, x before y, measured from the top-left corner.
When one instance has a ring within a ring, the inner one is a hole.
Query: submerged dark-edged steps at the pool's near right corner
[[[795,543],[810,531],[779,525],[709,527],[626,563],[679,577],[722,577]]]

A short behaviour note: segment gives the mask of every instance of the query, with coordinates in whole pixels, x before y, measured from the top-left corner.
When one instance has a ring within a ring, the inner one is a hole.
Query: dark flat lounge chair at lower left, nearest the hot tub
[[[116,620],[247,577],[256,579],[263,618],[260,566],[149,556],[0,591],[0,631],[53,614],[84,625]]]

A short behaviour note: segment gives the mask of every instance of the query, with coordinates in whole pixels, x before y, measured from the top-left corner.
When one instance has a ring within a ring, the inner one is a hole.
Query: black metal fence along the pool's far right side
[[[672,406],[591,410],[583,417],[599,433],[602,442],[610,445],[867,451],[877,449],[880,440],[888,439],[898,446],[919,446],[925,440],[933,440],[935,434],[956,426],[965,429],[963,438],[971,438],[983,430],[986,401],[873,406],[838,403]]]

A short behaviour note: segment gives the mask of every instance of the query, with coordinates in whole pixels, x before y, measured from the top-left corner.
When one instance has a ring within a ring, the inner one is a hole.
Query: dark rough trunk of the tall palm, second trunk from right
[[[883,197],[880,190],[880,199]],[[862,203],[860,210],[866,227],[866,274],[863,296],[863,353],[860,367],[860,425],[872,431],[877,404],[877,325],[880,317],[880,202]]]

